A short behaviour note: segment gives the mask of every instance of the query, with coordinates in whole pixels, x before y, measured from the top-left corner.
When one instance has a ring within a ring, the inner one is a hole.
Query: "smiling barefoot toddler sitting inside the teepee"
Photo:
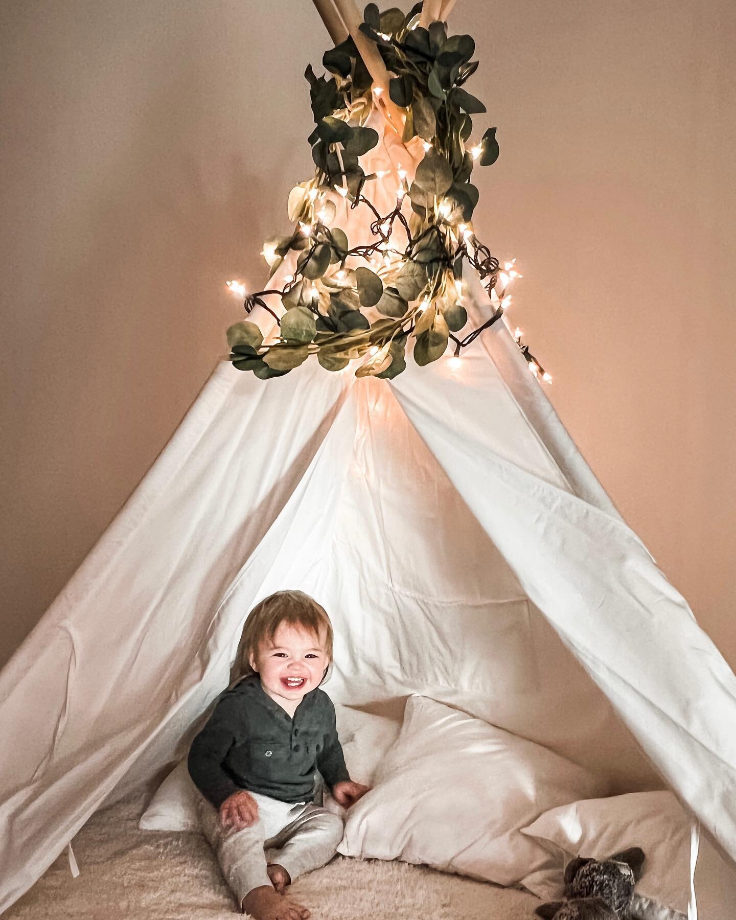
[[[319,684],[332,661],[332,624],[301,591],[280,591],[247,617],[234,675],[192,742],[190,776],[202,830],[240,909],[257,920],[305,920],[283,896],[337,852],[342,820],[314,804],[318,769],[349,808],[367,787],[351,782],[335,707]]]

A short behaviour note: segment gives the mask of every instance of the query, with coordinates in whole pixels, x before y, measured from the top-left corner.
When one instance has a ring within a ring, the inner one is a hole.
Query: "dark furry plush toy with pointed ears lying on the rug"
[[[543,920],[633,920],[634,886],[644,852],[632,846],[608,859],[576,857],[565,868],[565,901],[536,908]]]

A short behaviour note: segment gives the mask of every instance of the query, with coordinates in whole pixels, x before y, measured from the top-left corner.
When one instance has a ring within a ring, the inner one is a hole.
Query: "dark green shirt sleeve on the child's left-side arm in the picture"
[[[235,696],[224,696],[218,702],[207,724],[191,742],[187,766],[194,785],[216,809],[240,787],[223,763],[236,742],[237,729],[242,724],[242,708]]]

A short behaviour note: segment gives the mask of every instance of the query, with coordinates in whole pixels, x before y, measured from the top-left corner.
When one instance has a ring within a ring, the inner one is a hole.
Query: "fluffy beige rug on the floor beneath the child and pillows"
[[[236,904],[200,834],[139,831],[142,795],[98,811],[4,920],[213,920]],[[531,920],[535,897],[407,863],[336,857],[292,888],[313,920]]]

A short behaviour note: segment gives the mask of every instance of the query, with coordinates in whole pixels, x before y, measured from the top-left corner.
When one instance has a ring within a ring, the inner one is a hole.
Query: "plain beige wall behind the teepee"
[[[452,24],[499,127],[476,226],[522,266],[512,320],[733,665],[734,7],[459,0]],[[0,34],[2,663],[223,353],[224,280],[262,280],[327,35],[308,0],[6,0]]]

